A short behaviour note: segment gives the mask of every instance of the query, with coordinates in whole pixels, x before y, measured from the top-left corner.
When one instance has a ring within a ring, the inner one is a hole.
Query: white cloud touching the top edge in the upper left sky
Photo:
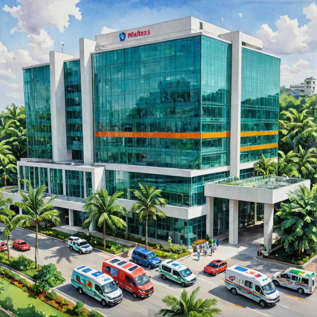
[[[14,32],[26,31],[40,35],[47,27],[58,28],[64,32],[69,25],[69,16],[81,20],[82,15],[76,4],[80,0],[17,0],[22,5],[10,8],[7,4],[3,10],[18,19],[18,25],[11,29]]]

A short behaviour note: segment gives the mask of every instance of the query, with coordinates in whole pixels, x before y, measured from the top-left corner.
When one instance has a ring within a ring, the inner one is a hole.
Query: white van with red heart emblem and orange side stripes
[[[224,285],[232,294],[249,297],[262,308],[275,306],[280,301],[280,294],[267,275],[240,265],[226,269]]]

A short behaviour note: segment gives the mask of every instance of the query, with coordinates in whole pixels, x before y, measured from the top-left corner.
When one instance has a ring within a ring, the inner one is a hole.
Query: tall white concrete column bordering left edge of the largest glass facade
[[[94,113],[93,113],[93,74],[92,56],[96,41],[79,39],[81,71],[81,109],[84,163],[94,163]]]

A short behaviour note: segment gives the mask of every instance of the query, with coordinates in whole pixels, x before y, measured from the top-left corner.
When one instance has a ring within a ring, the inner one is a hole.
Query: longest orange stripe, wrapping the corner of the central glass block
[[[177,132],[98,132],[96,137],[113,138],[166,138],[166,139],[209,139],[230,137],[230,132],[210,132],[210,133],[177,133]]]

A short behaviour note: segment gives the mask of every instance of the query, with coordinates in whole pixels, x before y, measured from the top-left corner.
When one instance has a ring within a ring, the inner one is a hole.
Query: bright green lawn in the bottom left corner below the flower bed
[[[12,285],[7,280],[0,278],[3,282],[4,292],[0,294],[0,300],[4,300],[6,297],[11,297],[13,309],[12,313],[15,316],[22,316],[23,310],[28,307],[28,304],[32,304],[36,310],[42,311],[46,316],[69,316],[68,314],[61,313],[57,309],[49,306],[40,299],[36,298],[32,294],[29,294],[22,289]]]

